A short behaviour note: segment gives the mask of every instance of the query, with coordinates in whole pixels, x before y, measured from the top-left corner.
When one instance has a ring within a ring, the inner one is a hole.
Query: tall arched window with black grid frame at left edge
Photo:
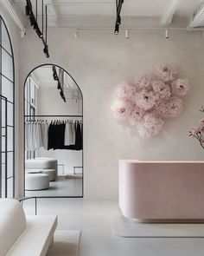
[[[8,41],[3,41],[3,35]],[[14,196],[15,65],[10,33],[0,15],[0,197]]]

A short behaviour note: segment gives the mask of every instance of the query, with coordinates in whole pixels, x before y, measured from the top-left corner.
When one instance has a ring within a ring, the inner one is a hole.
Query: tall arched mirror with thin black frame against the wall
[[[25,196],[83,197],[83,97],[57,65],[25,81],[24,160]]]

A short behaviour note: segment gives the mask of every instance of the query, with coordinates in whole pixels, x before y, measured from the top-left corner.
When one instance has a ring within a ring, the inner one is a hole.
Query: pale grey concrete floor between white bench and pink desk
[[[26,213],[34,213],[31,200]],[[136,239],[112,234],[111,220],[118,216],[113,200],[38,199],[39,214],[57,214],[58,229],[80,229],[80,256],[202,256],[204,239]],[[57,255],[56,255],[57,256]]]

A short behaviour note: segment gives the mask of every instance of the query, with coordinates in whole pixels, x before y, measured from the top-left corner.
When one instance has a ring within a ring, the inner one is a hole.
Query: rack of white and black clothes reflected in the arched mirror
[[[31,128],[27,126],[27,121],[36,121],[35,118],[56,118],[56,119],[76,119],[75,124],[67,123],[53,123],[46,125],[46,123],[36,123],[37,127]],[[28,147],[27,150],[36,150],[41,147],[49,149],[70,149],[81,150],[83,148],[83,134],[81,126],[82,122],[77,120],[82,118],[82,115],[24,115],[25,130]],[[27,120],[26,120],[27,119]],[[80,124],[76,124],[76,121]],[[44,128],[46,126],[46,128]],[[40,128],[39,128],[40,127]],[[39,132],[40,130],[40,132]],[[48,135],[46,135],[48,134]],[[28,138],[34,138],[32,140]],[[29,141],[32,141],[31,143]],[[45,141],[45,142],[44,142]],[[31,148],[31,149],[30,149]]]

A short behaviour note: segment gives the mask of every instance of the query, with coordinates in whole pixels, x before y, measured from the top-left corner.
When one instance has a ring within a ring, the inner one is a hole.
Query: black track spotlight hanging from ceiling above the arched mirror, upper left
[[[39,38],[41,38],[41,42],[44,45],[43,52],[44,52],[45,56],[49,57],[48,43],[47,43],[47,34],[48,34],[48,12],[47,12],[47,5],[45,7],[46,25],[45,25],[45,37],[44,37],[44,0],[41,0],[41,11],[42,11],[41,29],[42,29],[42,31],[40,30],[39,24],[37,23],[37,3],[38,2],[39,2],[39,0],[35,0],[36,13],[34,14],[32,3],[30,2],[30,0],[26,0],[25,13],[26,13],[26,16],[29,16],[30,26],[34,28],[37,36]]]

